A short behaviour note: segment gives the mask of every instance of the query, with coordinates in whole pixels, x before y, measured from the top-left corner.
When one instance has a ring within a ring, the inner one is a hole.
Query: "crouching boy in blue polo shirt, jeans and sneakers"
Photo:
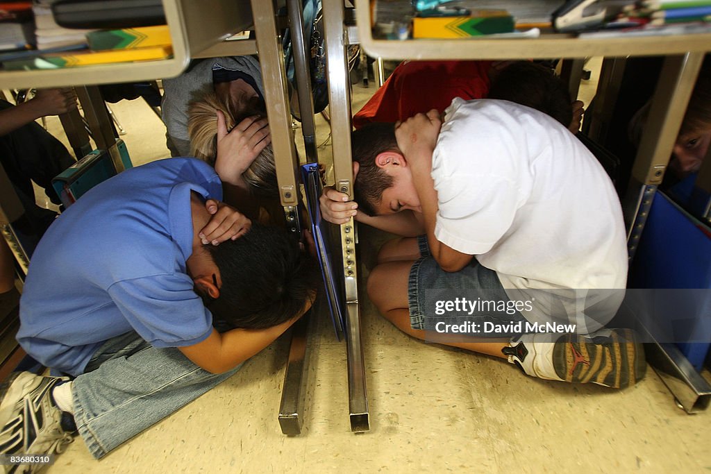
[[[60,452],[78,430],[101,458],[230,377],[308,310],[318,269],[286,231],[254,224],[205,244],[205,200],[221,198],[213,168],[170,158],[97,185],[60,215],[33,254],[17,338],[75,378],[12,376],[1,453]],[[230,210],[227,227],[244,218]]]

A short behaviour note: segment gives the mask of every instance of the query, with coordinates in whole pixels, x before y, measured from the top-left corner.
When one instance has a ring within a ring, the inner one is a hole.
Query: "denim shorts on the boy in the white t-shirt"
[[[467,323],[483,328],[485,323],[494,325],[510,325],[511,323],[525,322],[525,318],[518,311],[471,311],[466,315],[432,313],[434,301],[432,291],[447,290],[453,296],[469,296],[490,301],[506,303],[509,300],[506,291],[501,286],[496,271],[479,264],[472,259],[471,264],[460,271],[449,272],[439,268],[437,261],[429,252],[427,239],[424,236],[417,238],[419,252],[422,256],[412,264],[410,279],[408,281],[407,297],[410,306],[410,324],[413,329],[436,330],[437,323],[444,321],[446,324],[461,325]],[[428,294],[430,293],[430,294]],[[441,294],[441,292],[437,292]],[[427,309],[430,308],[430,309]],[[512,325],[513,326],[513,325]],[[500,338],[503,335],[518,334],[514,331],[495,331],[493,333],[476,333],[478,337]]]

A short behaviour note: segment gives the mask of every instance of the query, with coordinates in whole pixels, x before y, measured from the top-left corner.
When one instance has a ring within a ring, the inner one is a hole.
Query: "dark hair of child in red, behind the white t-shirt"
[[[487,97],[540,110],[566,128],[572,122],[572,102],[565,83],[550,68],[530,61],[516,61],[498,72]]]

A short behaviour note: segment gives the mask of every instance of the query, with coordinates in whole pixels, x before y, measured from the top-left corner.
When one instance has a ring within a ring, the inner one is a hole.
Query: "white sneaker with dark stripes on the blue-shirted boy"
[[[54,403],[51,394],[55,385],[63,380],[67,378],[41,377],[32,372],[15,372],[10,375],[0,387],[0,453],[61,453],[73,441],[72,434],[62,429],[62,411]]]

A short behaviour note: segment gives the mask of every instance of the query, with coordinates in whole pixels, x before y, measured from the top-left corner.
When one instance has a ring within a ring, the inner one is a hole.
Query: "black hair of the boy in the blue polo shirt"
[[[205,245],[220,269],[220,296],[207,304],[215,321],[264,329],[289,321],[316,297],[321,272],[295,235],[252,222],[249,232]]]

